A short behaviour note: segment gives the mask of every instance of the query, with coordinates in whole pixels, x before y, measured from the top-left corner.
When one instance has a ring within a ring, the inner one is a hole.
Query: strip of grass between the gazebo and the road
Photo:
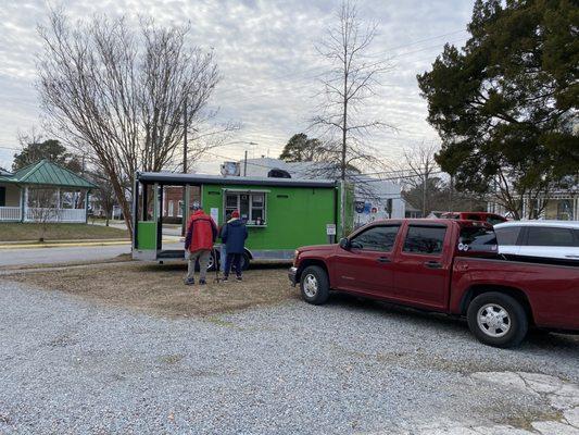
[[[42,236],[41,225],[35,223],[0,223],[0,243],[38,240]],[[124,229],[88,224],[48,224],[45,241],[99,240],[128,238]]]

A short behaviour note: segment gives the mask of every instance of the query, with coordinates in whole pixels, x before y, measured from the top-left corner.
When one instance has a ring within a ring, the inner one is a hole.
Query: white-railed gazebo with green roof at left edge
[[[97,185],[48,160],[0,173],[0,222],[86,223]]]

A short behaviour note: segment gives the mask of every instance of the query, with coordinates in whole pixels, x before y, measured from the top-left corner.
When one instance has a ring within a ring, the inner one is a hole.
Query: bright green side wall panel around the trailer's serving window
[[[224,190],[265,190],[266,226],[249,226],[247,248],[295,249],[304,245],[326,244],[326,225],[336,223],[335,188],[265,187],[204,185],[202,204],[209,214],[212,208],[219,209],[223,224]],[[286,198],[287,197],[287,198]]]

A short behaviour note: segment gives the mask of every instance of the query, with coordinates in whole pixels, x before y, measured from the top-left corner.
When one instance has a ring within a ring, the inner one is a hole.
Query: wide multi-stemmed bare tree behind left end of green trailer
[[[214,54],[187,44],[189,26],[164,28],[152,20],[134,32],[123,17],[71,24],[55,11],[39,34],[43,110],[60,137],[98,160],[133,235],[123,181],[133,185],[136,171],[161,171],[175,159],[218,83]],[[196,152],[193,145],[189,153]]]

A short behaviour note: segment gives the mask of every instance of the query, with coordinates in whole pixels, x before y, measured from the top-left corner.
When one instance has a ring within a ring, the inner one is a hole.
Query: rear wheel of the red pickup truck
[[[486,345],[518,346],[529,328],[527,313],[514,298],[490,291],[477,296],[468,306],[468,327]]]

